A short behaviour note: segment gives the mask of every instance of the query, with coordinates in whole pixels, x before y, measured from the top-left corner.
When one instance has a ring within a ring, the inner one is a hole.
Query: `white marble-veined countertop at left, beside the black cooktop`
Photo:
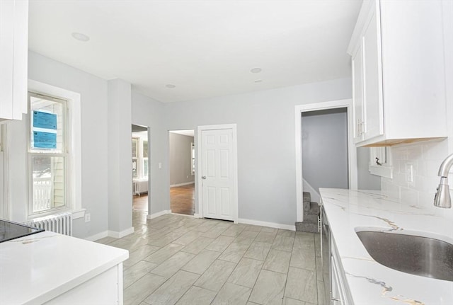
[[[45,303],[128,256],[120,248],[50,231],[5,241],[0,243],[0,304]]]

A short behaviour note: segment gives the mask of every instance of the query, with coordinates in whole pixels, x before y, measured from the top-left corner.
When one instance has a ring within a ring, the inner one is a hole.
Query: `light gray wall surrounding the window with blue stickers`
[[[91,221],[74,221],[74,235],[87,237],[108,230],[108,98],[107,81],[66,64],[28,54],[28,77],[35,81],[81,93],[81,202]],[[129,127],[130,128],[130,127]],[[13,221],[26,217],[27,142],[25,121],[8,122],[11,134],[9,166]]]

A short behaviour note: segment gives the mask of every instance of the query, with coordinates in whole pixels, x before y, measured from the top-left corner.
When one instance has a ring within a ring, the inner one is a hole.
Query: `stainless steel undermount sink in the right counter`
[[[436,238],[384,231],[357,231],[369,255],[394,270],[453,281],[453,244]]]

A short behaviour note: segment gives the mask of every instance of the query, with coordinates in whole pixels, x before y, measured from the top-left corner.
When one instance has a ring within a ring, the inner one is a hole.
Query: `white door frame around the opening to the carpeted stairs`
[[[295,142],[296,142],[296,216],[297,221],[304,221],[302,207],[302,113],[316,110],[346,108],[348,112],[348,182],[350,190],[357,190],[357,151],[355,150],[353,127],[352,98],[332,100],[323,103],[296,105],[294,107]]]

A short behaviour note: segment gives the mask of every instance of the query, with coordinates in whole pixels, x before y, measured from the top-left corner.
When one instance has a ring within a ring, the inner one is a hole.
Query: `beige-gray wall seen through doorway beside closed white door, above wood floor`
[[[194,143],[194,137],[169,132],[170,185],[195,182],[191,143]]]

